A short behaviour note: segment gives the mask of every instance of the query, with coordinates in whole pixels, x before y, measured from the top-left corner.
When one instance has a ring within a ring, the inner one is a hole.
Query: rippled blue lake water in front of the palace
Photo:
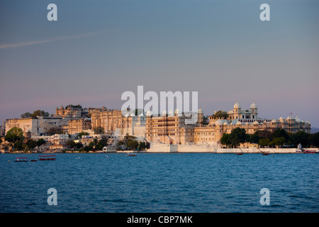
[[[1,213],[319,211],[317,154],[56,155],[0,155]],[[56,206],[47,204],[50,188]],[[260,204],[262,188],[269,205]]]

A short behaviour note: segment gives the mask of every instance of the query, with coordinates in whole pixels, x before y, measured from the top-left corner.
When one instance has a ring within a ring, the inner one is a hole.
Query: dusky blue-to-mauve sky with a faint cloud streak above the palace
[[[48,21],[48,4],[57,21]],[[261,21],[261,4],[270,21]],[[123,92],[198,92],[319,128],[319,1],[0,2],[0,119],[61,105],[121,109]]]

